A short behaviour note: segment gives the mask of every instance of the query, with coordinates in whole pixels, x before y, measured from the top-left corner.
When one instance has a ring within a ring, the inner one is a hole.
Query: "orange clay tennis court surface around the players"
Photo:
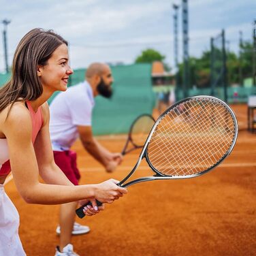
[[[214,171],[198,178],[144,182],[106,205],[106,210],[79,223],[91,232],[74,236],[80,255],[256,255],[256,134],[246,131],[246,106],[231,106],[240,125],[231,155]],[[157,114],[155,114],[157,117]],[[125,135],[98,138],[112,151],[121,151]],[[138,159],[139,150],[125,155],[113,174],[84,152],[78,166],[82,183],[121,180]],[[137,176],[150,175],[142,162]],[[14,181],[5,185],[20,213],[20,238],[27,255],[54,255],[59,206],[26,204]]]

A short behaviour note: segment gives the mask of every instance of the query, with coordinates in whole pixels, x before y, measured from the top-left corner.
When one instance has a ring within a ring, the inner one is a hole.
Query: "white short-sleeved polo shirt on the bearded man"
[[[69,150],[79,136],[77,125],[91,126],[95,100],[84,81],[59,93],[50,104],[50,139],[52,149]]]

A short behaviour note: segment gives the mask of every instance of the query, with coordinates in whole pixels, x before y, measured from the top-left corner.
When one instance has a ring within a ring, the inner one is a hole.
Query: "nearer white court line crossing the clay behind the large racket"
[[[220,167],[256,167],[256,163],[221,163]],[[133,166],[119,166],[117,170],[129,171]],[[148,166],[138,167],[140,170],[148,170]],[[80,172],[104,172],[102,167],[80,168]],[[114,173],[114,172],[113,172]]]

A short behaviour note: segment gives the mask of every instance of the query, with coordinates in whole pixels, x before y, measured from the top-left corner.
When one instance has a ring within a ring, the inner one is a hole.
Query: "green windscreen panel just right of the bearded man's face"
[[[95,134],[127,133],[136,117],[152,114],[155,106],[150,64],[120,65],[111,69],[114,93],[112,99],[95,98]]]

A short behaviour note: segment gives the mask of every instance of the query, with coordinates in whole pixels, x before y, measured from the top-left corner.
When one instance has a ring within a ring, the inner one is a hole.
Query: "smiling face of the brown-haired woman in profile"
[[[44,66],[39,66],[37,76],[39,76],[42,86],[48,91],[66,91],[67,80],[73,70],[68,64],[69,55],[67,46],[61,44],[48,59],[48,63]]]

